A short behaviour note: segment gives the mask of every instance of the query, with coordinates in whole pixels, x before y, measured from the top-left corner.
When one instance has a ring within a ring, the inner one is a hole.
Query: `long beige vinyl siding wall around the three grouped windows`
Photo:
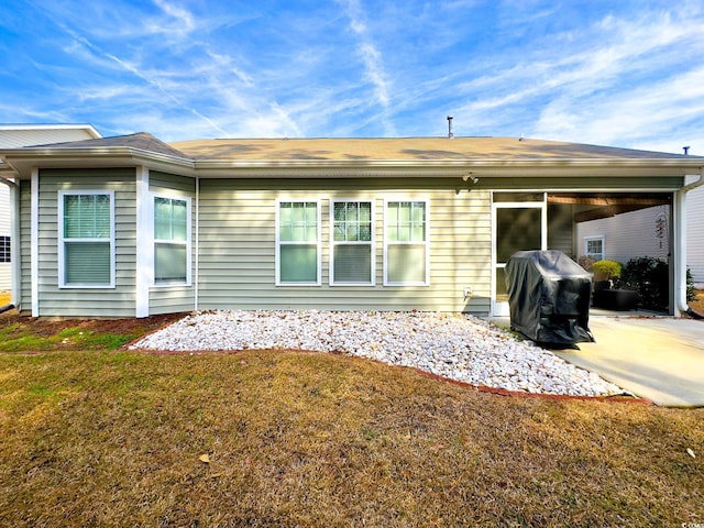
[[[201,180],[200,309],[432,310],[490,309],[491,204],[486,191],[457,194],[429,182]],[[267,185],[270,189],[256,187]],[[318,187],[316,189],[314,187]],[[352,184],[352,185],[351,185]],[[453,185],[457,183],[453,180]],[[277,189],[276,187],[286,187]],[[426,187],[426,188],[424,188]],[[360,190],[364,189],[364,190]],[[375,286],[330,286],[330,200],[373,200]],[[275,286],[276,200],[320,200],[321,286]],[[428,200],[430,286],[383,286],[384,199]],[[474,296],[468,305],[464,287]]]

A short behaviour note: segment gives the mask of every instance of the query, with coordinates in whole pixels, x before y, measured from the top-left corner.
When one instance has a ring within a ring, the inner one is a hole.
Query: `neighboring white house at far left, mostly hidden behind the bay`
[[[0,124],[0,148],[45,145],[101,138],[90,124]],[[0,290],[9,290],[12,275],[10,188],[0,178]]]

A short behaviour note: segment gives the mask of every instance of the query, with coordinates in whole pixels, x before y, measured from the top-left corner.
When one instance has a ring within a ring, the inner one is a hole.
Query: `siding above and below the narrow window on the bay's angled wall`
[[[190,254],[191,270],[195,274],[195,248],[196,248],[196,202],[195,193],[196,180],[184,176],[150,172],[150,191],[155,194],[174,194],[178,196],[190,197],[191,200],[191,232],[193,232],[193,251]],[[170,196],[170,195],[169,195]],[[150,288],[150,315],[174,314],[180,311],[193,311],[196,307],[195,295],[195,277],[191,276],[191,286],[152,286]]]

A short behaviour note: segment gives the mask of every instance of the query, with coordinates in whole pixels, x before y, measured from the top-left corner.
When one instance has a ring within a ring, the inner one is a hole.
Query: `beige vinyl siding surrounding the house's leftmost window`
[[[59,190],[114,191],[114,288],[58,288]],[[134,316],[135,200],[134,168],[43,169],[40,172],[38,306],[41,316]]]

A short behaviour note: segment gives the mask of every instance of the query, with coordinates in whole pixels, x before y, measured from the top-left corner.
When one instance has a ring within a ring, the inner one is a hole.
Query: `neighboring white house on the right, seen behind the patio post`
[[[670,206],[658,205],[578,223],[579,256],[626,264],[651,256],[668,260]],[[704,287],[704,187],[686,195],[686,264],[697,287]]]

